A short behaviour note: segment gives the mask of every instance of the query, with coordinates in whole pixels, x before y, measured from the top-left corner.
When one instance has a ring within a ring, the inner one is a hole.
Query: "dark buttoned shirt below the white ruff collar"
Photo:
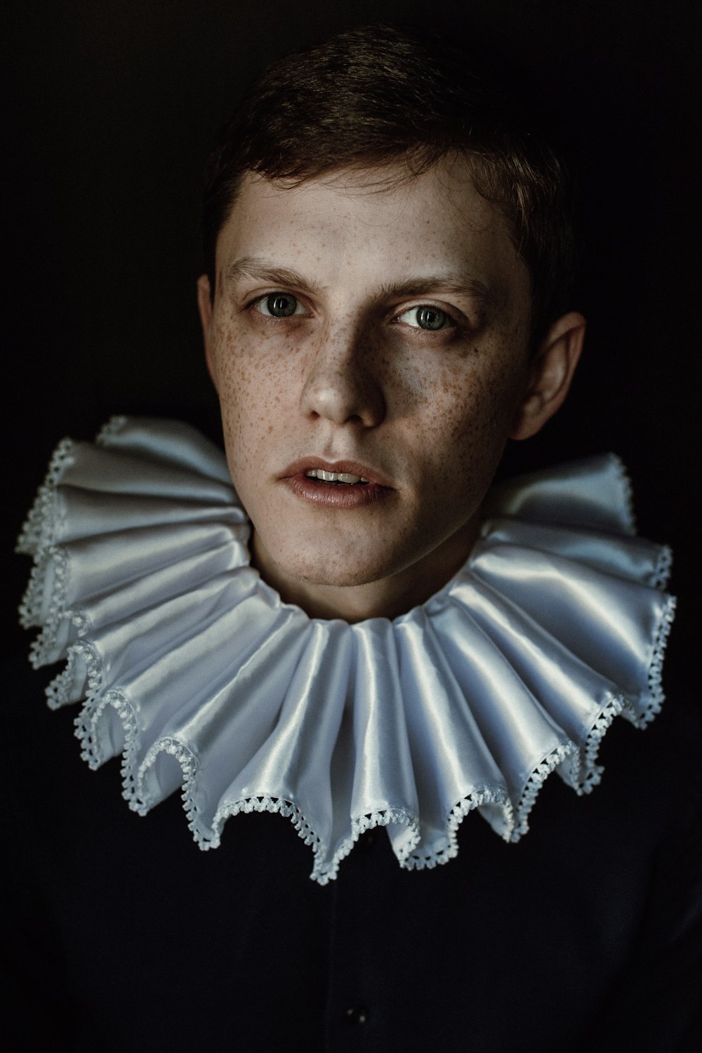
[[[402,870],[382,829],[336,881],[277,815],[201,852],[177,795],[145,818],[5,671],[3,895],[12,1050],[668,1051],[702,1048],[695,709],[618,719],[602,783],[547,779],[506,845],[477,814],[444,866]],[[6,724],[7,728],[7,724]]]

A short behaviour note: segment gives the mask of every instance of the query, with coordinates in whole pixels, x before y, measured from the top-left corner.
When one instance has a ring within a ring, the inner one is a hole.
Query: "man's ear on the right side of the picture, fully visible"
[[[585,319],[570,311],[554,322],[539,344],[509,437],[528,439],[554,416],[568,394],[585,337]]]

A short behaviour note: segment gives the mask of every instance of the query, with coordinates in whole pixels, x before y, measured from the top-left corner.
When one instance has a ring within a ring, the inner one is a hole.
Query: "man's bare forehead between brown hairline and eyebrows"
[[[478,194],[464,161],[420,176],[399,164],[342,170],[297,186],[248,174],[220,233],[218,280],[248,258],[302,270],[320,286],[445,273],[498,299],[529,291],[502,213]]]

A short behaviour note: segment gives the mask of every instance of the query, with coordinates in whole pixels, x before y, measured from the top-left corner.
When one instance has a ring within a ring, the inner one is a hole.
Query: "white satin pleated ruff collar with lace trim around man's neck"
[[[325,883],[369,827],[406,868],[455,856],[472,809],[517,840],[551,771],[587,792],[614,717],[660,709],[670,554],[633,536],[614,456],[498,485],[485,516],[422,607],[310,620],[248,565],[222,453],[115,419],[59,445],[20,538],[32,660],[67,657],[47,694],[84,698],[84,758],[123,753],[141,814],[182,786],[203,849],[230,815],[280,812]]]

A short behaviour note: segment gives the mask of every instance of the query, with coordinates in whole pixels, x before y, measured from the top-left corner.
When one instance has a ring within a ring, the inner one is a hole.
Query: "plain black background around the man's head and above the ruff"
[[[696,0],[11,0],[2,514],[9,553],[60,437],[115,413],[213,437],[200,352],[201,170],[242,88],[344,25],[424,19],[518,62],[566,115],[585,194],[574,301],[587,354],[564,411],[515,469],[615,450],[642,533],[669,541],[695,647],[700,355],[700,4]],[[8,558],[9,648],[27,564]]]

